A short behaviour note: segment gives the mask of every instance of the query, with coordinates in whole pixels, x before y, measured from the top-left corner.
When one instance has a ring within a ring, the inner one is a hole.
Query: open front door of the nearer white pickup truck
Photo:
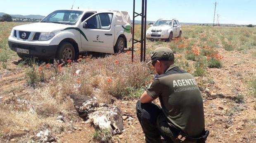
[[[97,13],[81,23],[81,44],[86,51],[114,53],[114,24],[112,12]]]

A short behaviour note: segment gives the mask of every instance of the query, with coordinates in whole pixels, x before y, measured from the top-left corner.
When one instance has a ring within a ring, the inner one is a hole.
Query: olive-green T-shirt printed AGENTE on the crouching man
[[[146,91],[153,99],[159,97],[168,125],[194,138],[204,131],[203,101],[191,74],[171,65]]]

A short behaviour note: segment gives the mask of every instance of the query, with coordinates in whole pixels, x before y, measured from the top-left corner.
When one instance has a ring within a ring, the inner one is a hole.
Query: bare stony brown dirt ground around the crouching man
[[[251,51],[225,51],[219,49],[225,58],[223,68],[207,69],[204,77],[196,77],[197,83],[202,90],[204,98],[205,126],[210,131],[207,139],[209,143],[255,143],[255,98],[251,95],[248,82],[256,77],[255,58]],[[211,81],[207,83],[207,81]],[[244,95],[244,103],[235,103],[232,100],[237,94]],[[136,118],[136,99],[131,101],[116,100],[115,105],[121,107],[123,113],[131,117],[132,124],[128,119],[124,120],[124,131],[114,136],[120,143],[142,143],[144,134],[140,123]],[[156,101],[159,103],[159,101]],[[90,125],[84,122],[76,124],[78,129],[74,132],[63,133],[60,142],[83,143],[91,141],[94,131]]]

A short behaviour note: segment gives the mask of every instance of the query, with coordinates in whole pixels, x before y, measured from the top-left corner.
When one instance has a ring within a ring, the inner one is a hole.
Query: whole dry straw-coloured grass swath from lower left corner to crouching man
[[[109,102],[110,96],[117,98],[135,97],[136,89],[141,93],[145,90],[145,83],[150,77],[147,65],[135,56],[135,62],[130,62],[130,53],[108,56],[91,60],[84,58],[78,63],[59,66],[55,74],[54,64],[43,67],[47,82],[38,82],[34,88],[26,89],[24,95],[11,95],[1,102],[0,130],[3,138],[17,138],[10,135],[17,129],[31,131],[26,135],[35,136],[41,128],[49,129],[57,136],[60,131],[69,129],[69,121],[81,120],[73,111],[74,106],[69,94],[90,95],[101,98],[100,101]],[[34,66],[35,74],[42,69]],[[80,70],[78,74],[75,74]],[[49,78],[52,76],[52,78]],[[132,87],[133,90],[127,90]],[[138,96],[138,95],[136,95]],[[67,122],[59,123],[57,117],[63,114]],[[24,135],[21,135],[25,137]]]

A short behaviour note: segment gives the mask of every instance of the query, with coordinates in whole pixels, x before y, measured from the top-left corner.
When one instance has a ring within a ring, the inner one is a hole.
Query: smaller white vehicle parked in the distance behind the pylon
[[[181,26],[177,19],[159,19],[146,32],[147,39],[165,39],[181,37]]]

